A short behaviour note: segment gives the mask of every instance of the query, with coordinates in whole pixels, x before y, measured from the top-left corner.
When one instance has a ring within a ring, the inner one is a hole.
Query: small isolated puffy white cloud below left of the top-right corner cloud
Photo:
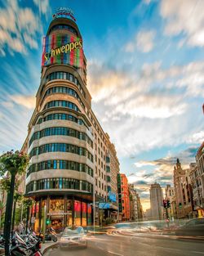
[[[151,52],[154,47],[154,38],[155,38],[155,31],[149,30],[149,31],[140,31],[135,36],[135,40],[131,41],[126,44],[125,51],[126,52],[135,52],[135,49],[137,49],[140,52]]]

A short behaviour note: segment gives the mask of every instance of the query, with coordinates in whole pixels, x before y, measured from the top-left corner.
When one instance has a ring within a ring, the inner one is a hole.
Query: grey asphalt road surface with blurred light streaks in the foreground
[[[87,249],[51,249],[46,256],[204,256],[204,242],[171,236],[119,234],[90,236]]]

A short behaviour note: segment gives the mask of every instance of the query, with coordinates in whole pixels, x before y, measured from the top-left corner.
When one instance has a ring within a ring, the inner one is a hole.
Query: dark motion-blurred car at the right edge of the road
[[[176,236],[204,236],[204,218],[193,218],[175,230]]]

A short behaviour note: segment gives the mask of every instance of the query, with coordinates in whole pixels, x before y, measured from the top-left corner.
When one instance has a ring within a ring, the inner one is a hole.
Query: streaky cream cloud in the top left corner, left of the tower
[[[0,9],[0,47],[2,56],[9,52],[26,54],[28,47],[37,48],[36,36],[41,32],[39,17],[28,7],[20,7],[16,0],[6,1]],[[4,53],[4,54],[3,54]]]

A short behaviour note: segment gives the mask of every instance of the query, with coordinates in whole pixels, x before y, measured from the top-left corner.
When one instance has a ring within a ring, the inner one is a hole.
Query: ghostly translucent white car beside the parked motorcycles
[[[87,248],[87,237],[83,227],[65,227],[59,244],[60,249],[71,247]]]

